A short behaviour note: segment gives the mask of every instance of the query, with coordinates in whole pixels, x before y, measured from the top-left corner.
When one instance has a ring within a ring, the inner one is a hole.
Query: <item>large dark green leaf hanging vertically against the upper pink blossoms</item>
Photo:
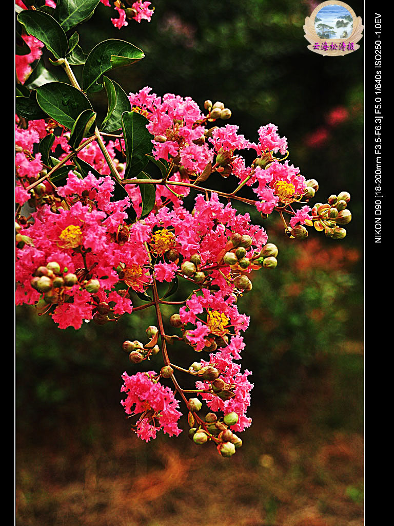
[[[126,146],[125,179],[129,179],[147,166],[149,159],[146,154],[152,151],[153,135],[147,130],[149,120],[140,113],[125,112],[121,120]]]

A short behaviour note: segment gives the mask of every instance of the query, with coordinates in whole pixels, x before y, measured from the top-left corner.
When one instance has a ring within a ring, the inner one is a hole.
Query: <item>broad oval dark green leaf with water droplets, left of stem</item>
[[[86,95],[63,82],[49,82],[37,88],[37,102],[57,123],[69,129],[81,112],[92,109]]]

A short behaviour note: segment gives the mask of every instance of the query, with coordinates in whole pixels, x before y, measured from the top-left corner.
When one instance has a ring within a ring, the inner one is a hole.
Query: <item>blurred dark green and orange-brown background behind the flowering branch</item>
[[[121,38],[143,49],[140,63],[110,75],[127,93],[151,86],[201,107],[220,100],[232,110],[229,123],[252,141],[258,127],[276,124],[291,164],[318,180],[316,201],[349,191],[352,222],[344,240],[311,231],[299,242],[276,219],[262,222],[240,207],[266,228],[279,264],[256,274],[238,304],[252,317],[243,368],[253,371],[253,425],[231,459],[196,446],[187,432],[148,444],[132,433],[120,377],[138,368],[121,343],[143,339],[155,324],[150,312],[75,331],[18,307],[16,523],[364,524],[364,42],[344,57],[310,52],[303,25],[314,2],[153,4],[151,23],[130,21],[121,31],[109,20],[115,12],[100,4],[78,28],[82,48]],[[351,7],[364,18],[361,1]],[[105,94],[94,104],[105,114]],[[231,184],[211,179],[211,187]],[[186,347],[172,352],[195,359]],[[150,367],[161,367],[159,356]]]

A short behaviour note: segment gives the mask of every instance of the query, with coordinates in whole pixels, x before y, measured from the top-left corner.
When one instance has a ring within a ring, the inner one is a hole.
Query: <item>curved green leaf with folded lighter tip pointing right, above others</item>
[[[127,66],[141,60],[145,55],[136,46],[122,40],[110,39],[95,46],[82,72],[82,86],[85,92],[99,92],[101,76],[112,68]]]

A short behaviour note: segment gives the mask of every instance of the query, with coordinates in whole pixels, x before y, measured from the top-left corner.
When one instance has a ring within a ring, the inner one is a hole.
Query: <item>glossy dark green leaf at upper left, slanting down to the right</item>
[[[43,42],[56,58],[65,57],[68,48],[66,33],[55,18],[43,11],[22,11],[18,21],[25,26],[29,35]]]

